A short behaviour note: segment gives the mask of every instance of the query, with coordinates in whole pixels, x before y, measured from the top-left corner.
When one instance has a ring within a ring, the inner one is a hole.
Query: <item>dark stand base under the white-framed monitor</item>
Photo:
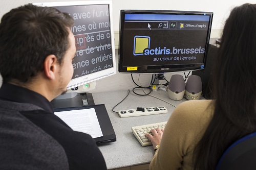
[[[95,105],[92,93],[69,92],[51,101],[54,109]]]

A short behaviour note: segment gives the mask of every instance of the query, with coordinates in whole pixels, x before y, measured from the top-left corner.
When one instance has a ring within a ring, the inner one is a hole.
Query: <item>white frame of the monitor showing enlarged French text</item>
[[[60,7],[60,6],[78,6],[78,5],[108,5],[109,6],[109,19],[110,19],[110,32],[111,32],[111,50],[112,50],[112,65],[113,67],[101,71],[93,72],[92,74],[81,76],[71,79],[67,85],[67,89],[82,86],[116,74],[116,56],[114,44],[114,27],[113,27],[113,6],[112,1],[74,1],[74,2],[46,2],[46,3],[32,3],[33,5],[41,7]]]

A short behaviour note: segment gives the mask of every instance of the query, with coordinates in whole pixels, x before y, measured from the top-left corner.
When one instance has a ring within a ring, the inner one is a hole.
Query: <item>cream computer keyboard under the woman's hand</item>
[[[150,131],[152,129],[156,129],[156,128],[164,129],[166,123],[167,122],[160,122],[160,123],[155,123],[155,124],[134,126],[134,127],[132,127],[132,131],[133,131],[134,136],[139,140],[142,147],[145,147],[148,145],[152,145],[152,142],[150,141],[150,139],[148,139],[145,136],[145,133],[152,134]]]

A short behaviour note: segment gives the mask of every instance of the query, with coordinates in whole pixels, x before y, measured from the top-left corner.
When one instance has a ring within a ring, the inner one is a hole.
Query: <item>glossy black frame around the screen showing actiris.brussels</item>
[[[187,64],[187,65],[156,65],[156,66],[147,66],[143,69],[139,68],[138,70],[127,70],[127,67],[122,65],[123,62],[123,27],[124,27],[124,15],[125,14],[175,14],[175,15],[208,15],[209,25],[207,30],[207,39],[205,45],[205,55],[204,55],[204,67],[201,67],[200,64]],[[204,69],[206,66],[208,46],[210,40],[210,32],[212,25],[213,12],[202,12],[202,11],[174,11],[174,10],[120,10],[120,25],[119,25],[119,55],[118,55],[118,71],[120,73],[131,73],[131,74],[164,74],[167,72],[182,72],[182,71],[193,71]]]

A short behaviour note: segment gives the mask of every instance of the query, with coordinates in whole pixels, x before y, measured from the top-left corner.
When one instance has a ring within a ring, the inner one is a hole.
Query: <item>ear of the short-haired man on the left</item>
[[[46,57],[44,62],[44,71],[48,79],[54,80],[57,71],[58,62],[55,55],[49,55]]]

